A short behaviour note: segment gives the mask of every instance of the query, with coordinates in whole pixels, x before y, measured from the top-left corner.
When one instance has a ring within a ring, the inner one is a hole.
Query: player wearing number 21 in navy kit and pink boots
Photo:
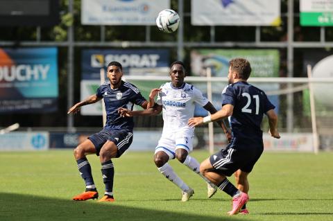
[[[213,154],[200,164],[202,173],[212,183],[232,197],[230,215],[237,214],[248,202],[248,174],[264,150],[262,141],[263,115],[268,116],[269,133],[279,139],[277,129],[278,116],[274,112],[274,105],[268,100],[261,89],[246,82],[251,73],[248,60],[235,58],[229,62],[229,84],[222,92],[222,109],[205,118],[189,119],[189,126],[218,121],[230,117],[232,140],[221,151]],[[237,188],[227,177],[234,173]],[[241,213],[248,213],[243,208]]]

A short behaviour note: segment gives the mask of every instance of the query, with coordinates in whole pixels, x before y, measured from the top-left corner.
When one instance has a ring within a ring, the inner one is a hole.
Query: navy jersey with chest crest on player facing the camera
[[[104,98],[106,110],[106,124],[104,128],[133,131],[133,118],[121,117],[118,114],[118,108],[124,107],[133,110],[134,105],[142,105],[146,101],[137,87],[121,80],[119,88],[111,89],[110,82],[105,82],[97,89],[96,96]]]

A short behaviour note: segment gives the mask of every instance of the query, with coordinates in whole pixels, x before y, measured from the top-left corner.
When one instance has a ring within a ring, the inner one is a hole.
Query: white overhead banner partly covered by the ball
[[[87,25],[154,25],[170,0],[82,0],[81,23]]]

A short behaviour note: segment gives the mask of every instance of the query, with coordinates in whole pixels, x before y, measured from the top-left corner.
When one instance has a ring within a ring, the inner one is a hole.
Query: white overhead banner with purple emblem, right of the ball
[[[280,26],[280,0],[191,0],[194,26]]]

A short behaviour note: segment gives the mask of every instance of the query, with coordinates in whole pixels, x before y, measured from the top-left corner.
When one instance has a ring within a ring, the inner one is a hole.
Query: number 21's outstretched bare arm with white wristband
[[[226,104],[226,105],[223,105],[222,109],[220,109],[215,114],[205,116],[204,118],[200,117],[200,116],[194,117],[194,118],[189,118],[188,125],[190,127],[195,127],[195,126],[203,124],[203,123],[210,123],[212,121],[218,121],[218,120],[221,120],[222,118],[231,116],[233,111],[234,111],[234,105]]]

